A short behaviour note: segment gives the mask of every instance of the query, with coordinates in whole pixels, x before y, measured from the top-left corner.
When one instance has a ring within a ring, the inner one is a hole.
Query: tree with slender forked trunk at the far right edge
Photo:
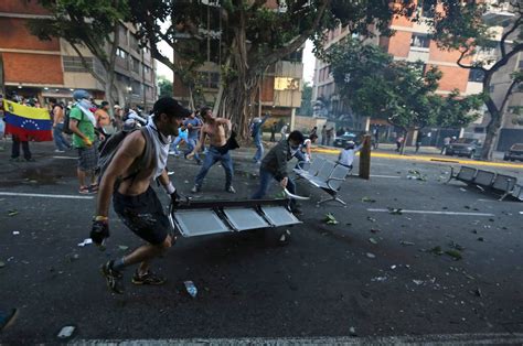
[[[485,150],[481,155],[482,159],[490,160],[510,97],[522,82],[521,74],[513,74],[510,83],[495,86],[493,84],[494,76],[505,73],[503,67],[523,52],[523,3],[521,0],[499,0],[498,4],[490,4],[494,10],[497,7],[508,8],[513,14],[502,22],[492,22],[484,20],[484,14],[492,8],[483,1],[456,1],[453,6],[447,3],[442,10],[437,10],[436,0],[425,1],[431,7],[433,15],[420,20],[431,25],[433,39],[442,48],[460,52],[457,61],[459,66],[477,68],[484,74],[484,105],[489,110],[490,120],[483,143]],[[497,26],[503,28],[501,37],[495,37]],[[477,53],[492,47],[497,47],[495,56],[484,55],[484,58],[473,60]],[[502,88],[500,98],[493,95],[491,87],[495,87],[497,91]]]

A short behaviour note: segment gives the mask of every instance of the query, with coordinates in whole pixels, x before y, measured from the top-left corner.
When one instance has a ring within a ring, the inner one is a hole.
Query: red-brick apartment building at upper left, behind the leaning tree
[[[6,94],[12,91],[41,101],[55,97],[71,100],[74,89],[87,89],[96,100],[105,99],[104,87],[82,64],[73,47],[61,39],[40,41],[26,28],[30,19],[49,12],[34,1],[0,1],[0,54],[3,58]],[[152,108],[157,98],[156,65],[150,51],[140,48],[135,29],[121,23],[116,61],[116,78],[124,90],[120,101]],[[86,48],[87,63],[102,72],[100,63]]]

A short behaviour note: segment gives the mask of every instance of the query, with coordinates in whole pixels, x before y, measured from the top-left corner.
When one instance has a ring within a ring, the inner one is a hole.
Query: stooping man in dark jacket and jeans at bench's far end
[[[273,179],[279,182],[282,188],[296,194],[296,184],[287,174],[287,162],[298,152],[301,143],[303,143],[303,134],[300,131],[292,131],[287,140],[280,141],[265,155],[259,167],[259,187],[253,195],[253,199],[262,199],[267,194]],[[290,208],[292,213],[301,214],[296,199],[290,199]]]

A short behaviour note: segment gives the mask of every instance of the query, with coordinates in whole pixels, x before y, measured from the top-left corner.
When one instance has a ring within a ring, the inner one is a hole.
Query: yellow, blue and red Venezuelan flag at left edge
[[[52,141],[53,123],[46,109],[22,106],[3,100],[6,133],[18,136],[22,141]]]

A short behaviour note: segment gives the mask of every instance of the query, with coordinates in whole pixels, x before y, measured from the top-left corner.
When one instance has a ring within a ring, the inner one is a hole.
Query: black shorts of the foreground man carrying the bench
[[[121,221],[149,244],[162,244],[171,230],[169,218],[151,186],[138,196],[126,196],[115,191],[113,207]]]

